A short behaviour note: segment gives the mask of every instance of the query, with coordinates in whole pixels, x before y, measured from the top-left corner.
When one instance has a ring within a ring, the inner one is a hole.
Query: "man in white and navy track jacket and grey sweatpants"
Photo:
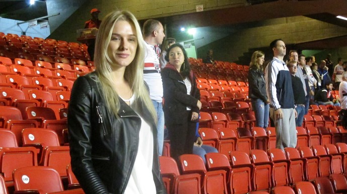
[[[281,39],[270,44],[274,58],[265,69],[265,81],[270,100],[270,117],[276,128],[276,148],[295,147],[297,142],[292,78],[286,63],[286,45]]]

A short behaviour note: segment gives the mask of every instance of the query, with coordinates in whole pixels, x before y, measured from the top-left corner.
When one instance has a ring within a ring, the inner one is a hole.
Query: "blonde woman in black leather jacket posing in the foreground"
[[[136,18],[127,11],[108,14],[95,50],[96,71],[79,77],[71,91],[72,171],[85,193],[165,193]]]

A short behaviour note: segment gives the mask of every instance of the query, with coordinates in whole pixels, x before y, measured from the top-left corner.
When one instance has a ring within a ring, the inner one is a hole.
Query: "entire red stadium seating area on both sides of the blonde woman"
[[[0,33],[0,193],[84,193],[69,166],[66,118],[73,81],[95,70],[86,48]],[[175,161],[165,140],[159,160],[167,193],[347,192],[347,130],[338,107],[312,105],[296,129],[297,147],[276,149],[274,126],[255,127],[249,67],[190,63],[203,105],[199,133],[219,153],[206,154],[206,165],[198,155]]]

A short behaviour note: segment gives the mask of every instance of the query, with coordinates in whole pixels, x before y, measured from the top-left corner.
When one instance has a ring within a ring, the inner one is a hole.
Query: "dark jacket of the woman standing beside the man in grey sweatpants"
[[[248,98],[261,99],[264,103],[268,101],[264,73],[255,68],[248,71]]]

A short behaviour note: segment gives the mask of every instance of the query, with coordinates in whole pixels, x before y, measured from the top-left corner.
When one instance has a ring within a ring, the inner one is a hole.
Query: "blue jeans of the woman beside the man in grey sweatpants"
[[[251,103],[256,127],[267,128],[269,124],[269,104],[264,103],[261,99],[252,99]]]

